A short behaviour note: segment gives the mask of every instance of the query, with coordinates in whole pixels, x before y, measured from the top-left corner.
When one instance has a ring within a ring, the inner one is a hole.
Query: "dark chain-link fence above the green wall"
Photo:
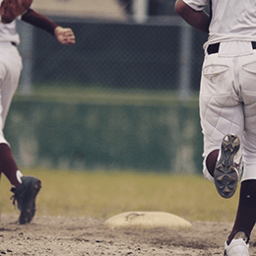
[[[177,16],[143,25],[59,17],[52,20],[72,28],[77,43],[59,45],[53,36],[33,29],[32,52],[29,56],[22,52],[31,63],[32,72],[26,73],[26,67],[24,73],[32,75],[33,87],[69,83],[99,90],[199,89],[206,35],[190,29]],[[22,39],[28,30],[25,34]]]

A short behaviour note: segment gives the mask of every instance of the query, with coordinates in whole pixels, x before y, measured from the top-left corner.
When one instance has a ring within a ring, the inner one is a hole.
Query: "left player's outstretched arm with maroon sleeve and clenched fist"
[[[74,32],[69,28],[62,28],[45,16],[29,9],[23,16],[22,21],[31,24],[45,32],[51,33],[62,44],[74,44],[76,42]]]

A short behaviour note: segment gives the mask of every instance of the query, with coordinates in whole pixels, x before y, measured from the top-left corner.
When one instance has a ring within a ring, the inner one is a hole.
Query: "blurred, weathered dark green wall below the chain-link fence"
[[[16,96],[6,123],[21,166],[201,173],[196,100],[183,105],[166,95],[119,94],[110,102],[98,93],[94,100],[65,89],[52,97],[42,93]]]

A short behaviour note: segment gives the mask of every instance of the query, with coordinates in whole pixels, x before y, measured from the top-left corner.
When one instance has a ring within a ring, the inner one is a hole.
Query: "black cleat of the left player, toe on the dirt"
[[[39,179],[32,176],[23,176],[20,187],[13,187],[13,204],[17,201],[18,209],[21,211],[19,224],[30,224],[35,214],[35,197],[41,188]]]

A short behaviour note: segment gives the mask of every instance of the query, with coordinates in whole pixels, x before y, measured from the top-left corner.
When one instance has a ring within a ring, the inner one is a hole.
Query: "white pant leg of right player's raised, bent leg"
[[[203,172],[214,181],[206,167],[206,158],[220,149],[224,135],[243,137],[243,103],[240,101],[231,57],[212,54],[205,58],[200,87],[200,118],[204,135]]]

